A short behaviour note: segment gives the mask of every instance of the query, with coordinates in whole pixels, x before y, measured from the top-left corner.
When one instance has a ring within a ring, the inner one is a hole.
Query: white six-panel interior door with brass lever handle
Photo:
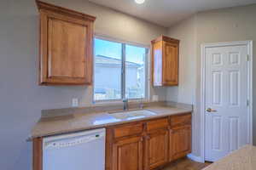
[[[205,160],[217,161],[250,143],[247,46],[206,48]]]

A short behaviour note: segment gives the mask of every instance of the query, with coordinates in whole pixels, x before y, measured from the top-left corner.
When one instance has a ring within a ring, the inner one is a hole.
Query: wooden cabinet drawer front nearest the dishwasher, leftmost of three
[[[143,123],[131,123],[121,127],[113,127],[113,138],[131,136],[143,133]]]

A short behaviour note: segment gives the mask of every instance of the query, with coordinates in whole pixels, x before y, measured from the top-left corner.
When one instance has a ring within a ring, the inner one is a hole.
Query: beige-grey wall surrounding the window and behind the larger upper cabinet
[[[149,44],[166,33],[131,16],[85,0],[52,1],[97,16],[96,32],[131,42]],[[38,10],[34,0],[0,1],[0,169],[31,169],[32,144],[26,142],[43,109],[91,105],[91,87],[38,86]],[[165,99],[164,89],[154,90]]]

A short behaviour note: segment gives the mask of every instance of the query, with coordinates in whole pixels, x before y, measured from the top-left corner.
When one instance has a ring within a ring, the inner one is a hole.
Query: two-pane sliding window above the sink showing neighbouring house
[[[148,48],[95,38],[94,100],[145,99]]]

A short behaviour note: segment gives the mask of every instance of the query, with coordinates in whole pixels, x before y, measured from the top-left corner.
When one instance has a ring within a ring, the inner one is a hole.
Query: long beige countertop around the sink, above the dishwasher
[[[152,106],[144,108],[153,111],[155,115],[144,116],[133,120],[117,119],[108,112],[76,113],[67,116],[41,118],[32,128],[30,139],[49,135],[72,133],[76,131],[108,127],[125,122],[137,122],[163,116],[172,116],[191,112],[189,109],[173,108],[170,106]]]

